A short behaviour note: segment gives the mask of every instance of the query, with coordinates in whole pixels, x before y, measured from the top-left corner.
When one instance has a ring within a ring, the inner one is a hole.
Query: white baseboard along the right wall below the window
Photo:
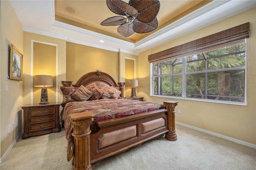
[[[251,148],[254,148],[256,149],[256,144],[252,144],[252,143],[249,143],[249,142],[244,142],[242,140],[238,140],[238,139],[235,139],[235,138],[230,138],[228,136],[224,136],[222,134],[218,134],[218,133],[215,133],[215,132],[211,132],[211,131],[208,131],[208,130],[204,130],[202,128],[198,128],[198,127],[193,127],[193,126],[190,126],[190,125],[186,125],[184,123],[180,123],[180,122],[176,122],[175,123],[177,125],[181,125],[181,126],[184,126],[184,127],[188,127],[188,128],[192,128],[194,130],[198,130],[200,132],[204,132],[204,133],[207,133],[207,134],[211,134],[213,136],[217,136],[217,137],[220,137],[220,138],[223,138],[223,139],[226,139],[226,140],[229,140],[229,141],[232,141],[232,142],[235,142],[235,143],[238,143],[238,144],[242,144],[244,146],[248,146],[248,147],[251,147]]]

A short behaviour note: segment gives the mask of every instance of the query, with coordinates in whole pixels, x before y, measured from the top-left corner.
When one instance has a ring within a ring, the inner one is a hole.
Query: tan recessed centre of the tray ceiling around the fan
[[[129,0],[124,2],[128,3]],[[55,20],[135,43],[209,2],[211,1],[160,0],[160,10],[156,16],[158,28],[146,34],[134,33],[127,38],[118,34],[119,26],[100,25],[105,19],[118,16],[108,9],[106,0],[55,0]]]

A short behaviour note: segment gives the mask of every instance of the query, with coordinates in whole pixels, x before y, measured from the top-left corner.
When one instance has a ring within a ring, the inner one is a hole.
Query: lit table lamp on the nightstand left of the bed
[[[51,75],[35,75],[34,76],[34,87],[42,87],[41,89],[41,102],[39,104],[49,104],[47,87],[52,87],[52,76]]]

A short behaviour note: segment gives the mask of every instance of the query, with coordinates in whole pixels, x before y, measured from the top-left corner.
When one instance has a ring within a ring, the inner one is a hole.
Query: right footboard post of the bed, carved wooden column
[[[165,133],[165,138],[167,140],[175,141],[177,140],[177,134],[175,130],[175,107],[178,105],[176,101],[164,101],[164,106],[168,110],[166,113],[168,115],[168,132]]]

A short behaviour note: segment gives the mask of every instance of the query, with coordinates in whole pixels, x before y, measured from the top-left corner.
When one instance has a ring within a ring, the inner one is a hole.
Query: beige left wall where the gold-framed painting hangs
[[[1,59],[0,59],[0,156],[8,150],[14,140],[22,131],[22,105],[24,81],[6,80],[9,73],[10,45],[13,44],[23,53],[23,29],[18,17],[10,6],[9,1],[1,3]],[[23,65],[24,68],[24,65]],[[8,85],[8,91],[6,91]],[[14,122],[14,128],[12,128]],[[11,131],[7,133],[7,127],[11,125]]]

